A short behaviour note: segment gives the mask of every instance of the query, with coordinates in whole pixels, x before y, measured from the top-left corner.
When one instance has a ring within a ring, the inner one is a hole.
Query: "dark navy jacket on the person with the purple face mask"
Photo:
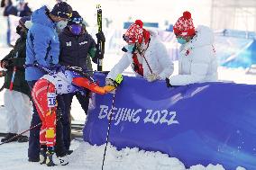
[[[78,36],[73,35],[66,27],[59,33],[59,64],[87,69],[89,51],[96,50],[96,42],[87,31]]]

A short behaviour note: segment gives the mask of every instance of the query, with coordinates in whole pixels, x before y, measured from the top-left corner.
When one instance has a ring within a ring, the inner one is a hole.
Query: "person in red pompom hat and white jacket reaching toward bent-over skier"
[[[173,63],[158,35],[142,26],[143,22],[136,20],[123,34],[123,40],[127,42],[123,48],[125,53],[106,76],[106,85],[113,85],[114,77],[130,65],[136,76],[149,82],[165,80],[173,73]]]

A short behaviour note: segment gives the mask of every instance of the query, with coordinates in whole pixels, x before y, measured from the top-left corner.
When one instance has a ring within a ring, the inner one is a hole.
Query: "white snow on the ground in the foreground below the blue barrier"
[[[76,170],[98,170],[101,169],[104,148],[102,146],[91,146],[87,142],[73,140],[71,149],[74,153],[69,156],[68,166],[47,167],[39,163],[27,161],[28,143],[8,143],[1,146],[0,169],[1,170],[45,170],[45,169],[76,169]],[[108,146],[105,156],[105,170],[224,170],[221,165],[191,166],[186,169],[184,164],[175,157],[168,157],[160,152],[149,152],[138,148],[123,148],[117,151],[113,146]],[[245,170],[237,167],[236,170]]]

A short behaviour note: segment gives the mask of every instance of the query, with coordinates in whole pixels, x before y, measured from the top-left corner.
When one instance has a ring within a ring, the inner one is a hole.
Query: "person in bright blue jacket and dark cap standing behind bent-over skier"
[[[67,21],[71,17],[71,12],[69,4],[59,3],[51,11],[42,6],[32,13],[32,28],[26,42],[26,65],[38,63],[50,67],[59,63],[59,38],[55,29],[57,22]],[[38,67],[26,67],[25,77],[30,88],[45,74]],[[39,123],[41,121],[33,104],[31,127]],[[39,134],[39,128],[30,130],[28,157],[31,162],[40,161]]]

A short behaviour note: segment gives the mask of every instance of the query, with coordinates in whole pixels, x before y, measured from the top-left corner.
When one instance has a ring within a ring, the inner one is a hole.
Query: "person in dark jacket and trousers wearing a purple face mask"
[[[83,18],[77,11],[72,12],[72,17],[68,26],[59,34],[60,53],[59,64],[69,67],[81,67],[84,70],[92,69],[89,67],[89,57],[96,63],[98,50],[96,41],[87,33],[82,25]],[[104,34],[98,33],[98,37],[105,40]],[[87,64],[88,63],[88,64]],[[70,146],[70,108],[73,96],[76,95],[83,110],[87,114],[89,103],[89,92],[86,96],[83,94],[63,94],[65,108],[62,109],[63,139],[67,149]]]

